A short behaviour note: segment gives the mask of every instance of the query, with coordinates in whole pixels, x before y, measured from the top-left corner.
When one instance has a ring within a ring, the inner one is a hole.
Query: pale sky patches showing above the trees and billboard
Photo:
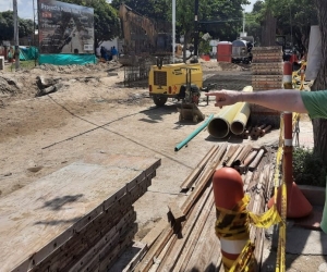
[[[36,9],[37,0],[17,0],[19,17],[31,20],[34,18],[34,15],[37,17],[37,14],[33,11],[33,1]],[[111,2],[111,0],[107,0],[107,2]],[[250,2],[251,4],[245,7],[246,12],[252,11],[253,3],[255,3],[256,0],[250,0]],[[0,0],[0,12],[8,10],[12,11],[12,0]]]

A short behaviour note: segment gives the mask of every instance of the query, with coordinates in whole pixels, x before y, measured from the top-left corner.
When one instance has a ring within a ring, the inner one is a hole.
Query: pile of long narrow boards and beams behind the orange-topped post
[[[250,209],[263,212],[271,191],[274,151],[264,149],[265,153],[261,153],[259,149],[242,145],[214,146],[182,183],[185,195],[169,205],[169,221],[162,219],[141,240],[145,247],[122,271],[222,271],[211,176],[222,166],[243,164],[254,150],[257,156],[251,163],[257,161],[256,168],[244,171],[242,177],[244,191],[252,197]],[[264,238],[264,231],[251,227],[258,267]]]

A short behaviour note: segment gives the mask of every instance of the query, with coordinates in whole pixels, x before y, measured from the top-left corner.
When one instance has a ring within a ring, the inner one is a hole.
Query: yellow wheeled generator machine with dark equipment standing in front
[[[198,63],[174,63],[162,65],[158,59],[157,65],[150,67],[148,76],[149,95],[158,107],[165,106],[168,98],[181,100],[178,110],[180,121],[191,119],[193,122],[204,120],[204,114],[197,104],[203,88],[203,71]]]

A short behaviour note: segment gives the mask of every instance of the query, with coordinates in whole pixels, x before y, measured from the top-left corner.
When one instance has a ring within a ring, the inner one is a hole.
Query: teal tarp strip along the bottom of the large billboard
[[[85,65],[96,63],[95,54],[40,54],[38,58],[39,65],[53,64],[53,65]]]

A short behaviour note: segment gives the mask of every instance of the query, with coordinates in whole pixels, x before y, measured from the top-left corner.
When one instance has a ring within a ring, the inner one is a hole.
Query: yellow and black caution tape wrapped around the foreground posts
[[[300,114],[294,113],[292,120],[292,126],[299,121]],[[279,239],[278,251],[276,259],[276,272],[286,272],[286,222],[287,222],[287,186],[282,178],[281,183],[281,162],[283,156],[283,119],[280,119],[280,135],[279,135],[279,148],[276,156],[276,169],[275,169],[275,205],[263,214],[255,214],[246,210],[250,202],[250,196],[245,195],[244,198],[235,206],[233,210],[226,210],[217,207],[217,221],[216,221],[216,234],[218,237],[227,239],[241,239],[249,237],[249,224],[253,224],[256,227],[268,228],[275,224],[279,224]],[[281,214],[277,209],[277,189],[281,186]],[[237,227],[233,226],[240,226]],[[255,267],[254,258],[254,244],[249,240],[244,246],[242,252],[239,255],[235,261],[229,260],[222,257],[222,262],[226,270],[229,272],[252,272]],[[230,268],[230,269],[229,269]]]

